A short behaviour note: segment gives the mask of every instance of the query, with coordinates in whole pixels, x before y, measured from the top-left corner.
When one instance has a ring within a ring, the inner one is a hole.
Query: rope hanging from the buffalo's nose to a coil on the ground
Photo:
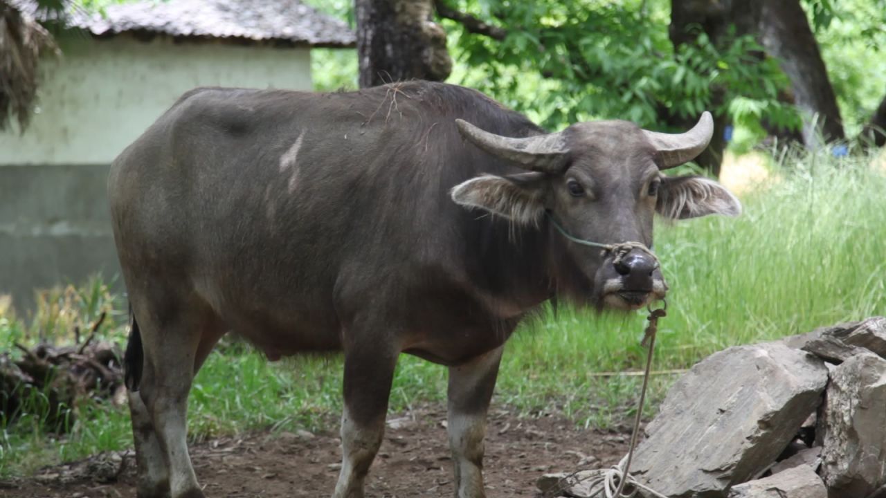
[[[640,422],[643,414],[643,405],[646,402],[646,391],[649,387],[649,372],[652,368],[652,355],[656,347],[656,332],[658,331],[658,319],[667,315],[667,301],[664,301],[664,307],[661,309],[649,309],[649,325],[643,335],[641,346],[648,348],[646,354],[646,370],[643,375],[643,386],[640,391],[640,400],[637,402],[637,414],[633,418],[633,431],[631,432],[631,445],[628,448],[627,455],[621,459],[618,464],[611,466],[607,470],[596,470],[583,479],[571,480],[569,477],[562,479],[566,481],[555,487],[556,493],[563,491],[565,487],[574,486],[579,482],[589,481],[588,488],[589,498],[633,498],[639,491],[645,492],[648,496],[654,498],[668,498],[664,494],[658,493],[649,486],[644,486],[631,476],[631,461],[633,460],[633,451],[637,447],[637,438],[640,435]],[[574,474],[573,474],[574,476]],[[626,488],[631,491],[625,492]]]

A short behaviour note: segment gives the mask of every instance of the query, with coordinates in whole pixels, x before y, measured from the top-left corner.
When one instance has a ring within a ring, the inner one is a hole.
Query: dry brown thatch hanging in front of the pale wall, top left
[[[40,56],[58,52],[45,28],[8,0],[0,0],[0,130],[18,119],[24,130],[35,103]]]

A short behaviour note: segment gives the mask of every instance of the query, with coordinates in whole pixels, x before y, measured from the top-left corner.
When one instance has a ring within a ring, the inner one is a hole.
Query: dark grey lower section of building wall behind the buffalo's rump
[[[32,306],[35,288],[119,273],[107,173],[106,165],[0,166],[0,294],[12,294],[19,311]]]

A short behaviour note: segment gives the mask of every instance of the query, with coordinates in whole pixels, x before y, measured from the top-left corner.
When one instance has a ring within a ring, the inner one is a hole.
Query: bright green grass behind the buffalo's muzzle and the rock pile
[[[768,183],[743,196],[741,217],[659,224],[671,290],[656,368],[886,314],[886,170],[873,159],[790,152],[773,161]],[[641,369],[643,315],[548,315],[509,343],[500,397],[522,407],[554,400],[586,424],[608,422],[618,404],[600,401],[616,401],[613,393],[633,400],[637,379],[595,373]],[[660,394],[668,377],[659,381]]]

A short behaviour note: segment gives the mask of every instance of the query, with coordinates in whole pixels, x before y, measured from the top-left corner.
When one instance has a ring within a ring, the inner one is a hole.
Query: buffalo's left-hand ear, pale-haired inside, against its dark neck
[[[483,175],[453,187],[455,204],[478,207],[520,225],[538,225],[545,213],[544,192],[548,175]]]

